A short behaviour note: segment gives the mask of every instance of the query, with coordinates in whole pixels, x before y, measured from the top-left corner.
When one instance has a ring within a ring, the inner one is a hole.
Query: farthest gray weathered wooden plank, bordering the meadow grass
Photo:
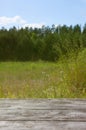
[[[86,109],[85,99],[0,99],[0,109],[47,109],[80,110]]]

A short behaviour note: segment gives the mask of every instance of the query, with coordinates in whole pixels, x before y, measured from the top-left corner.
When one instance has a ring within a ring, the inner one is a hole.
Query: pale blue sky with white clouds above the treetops
[[[86,0],[0,0],[0,28],[85,23]]]

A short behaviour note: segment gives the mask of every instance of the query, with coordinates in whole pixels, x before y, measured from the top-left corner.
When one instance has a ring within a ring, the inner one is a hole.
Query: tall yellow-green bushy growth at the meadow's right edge
[[[86,97],[86,49],[79,52],[77,58],[69,63],[67,78],[71,93]]]

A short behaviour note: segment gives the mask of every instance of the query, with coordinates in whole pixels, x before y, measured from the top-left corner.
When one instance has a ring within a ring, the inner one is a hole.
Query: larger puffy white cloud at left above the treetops
[[[10,24],[25,24],[27,23],[26,20],[22,19],[20,16],[14,16],[14,17],[0,17],[0,26],[6,26]]]

